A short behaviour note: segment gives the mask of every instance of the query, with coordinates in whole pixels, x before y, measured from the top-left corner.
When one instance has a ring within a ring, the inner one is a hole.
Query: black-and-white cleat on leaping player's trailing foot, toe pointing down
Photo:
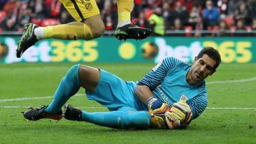
[[[35,28],[38,28],[36,24],[28,23],[25,25],[24,32],[21,38],[18,40],[18,48],[16,50],[16,57],[21,57],[23,52],[28,50],[32,45],[38,41],[36,35],[34,34]]]

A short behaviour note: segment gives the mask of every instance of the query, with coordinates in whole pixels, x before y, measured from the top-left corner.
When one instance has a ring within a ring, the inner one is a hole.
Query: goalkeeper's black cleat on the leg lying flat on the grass
[[[81,121],[82,118],[82,111],[80,109],[76,109],[70,104],[65,104],[63,106],[64,112],[63,117],[70,121]]]

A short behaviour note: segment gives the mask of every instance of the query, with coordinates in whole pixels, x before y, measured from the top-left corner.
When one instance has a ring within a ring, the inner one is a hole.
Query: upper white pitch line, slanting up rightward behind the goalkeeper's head
[[[255,81],[256,77],[251,77],[250,79],[235,79],[235,80],[226,80],[226,81],[212,81],[207,82],[206,84],[228,84],[228,83],[239,83],[239,82],[251,82]],[[85,94],[75,94],[75,96],[83,96]],[[6,96],[7,97],[7,96]],[[6,102],[6,101],[26,101],[30,99],[50,99],[53,98],[53,96],[41,96],[41,97],[23,97],[23,98],[17,98],[17,99],[0,99],[0,102]]]

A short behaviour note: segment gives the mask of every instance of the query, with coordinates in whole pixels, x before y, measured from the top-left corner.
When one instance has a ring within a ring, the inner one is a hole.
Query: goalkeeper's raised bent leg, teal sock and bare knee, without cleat
[[[93,92],[100,79],[100,70],[85,65],[74,65],[61,80],[54,94],[53,101],[46,112],[56,113],[62,106],[76,94],[80,87],[88,92]]]

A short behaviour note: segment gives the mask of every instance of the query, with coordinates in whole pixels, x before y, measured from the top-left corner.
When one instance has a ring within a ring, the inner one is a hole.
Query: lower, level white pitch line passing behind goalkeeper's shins
[[[28,109],[31,106],[0,106],[0,109]],[[106,107],[103,106],[80,106],[77,107],[78,109],[107,109]],[[256,110],[256,108],[221,108],[221,107],[210,107],[206,108],[209,110]]]

